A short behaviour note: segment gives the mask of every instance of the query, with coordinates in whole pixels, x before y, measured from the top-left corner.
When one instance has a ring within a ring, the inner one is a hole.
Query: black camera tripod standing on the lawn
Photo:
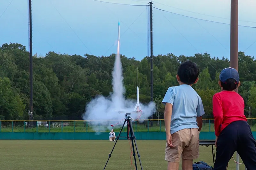
[[[139,161],[140,161],[140,154],[139,154],[139,151],[138,151],[138,148],[137,148],[137,144],[136,144],[136,137],[134,136],[134,132],[133,132],[133,129],[132,129],[131,117],[130,117],[130,116],[127,116],[127,115],[131,115],[131,113],[126,113],[126,114],[125,114],[124,124],[123,124],[123,126],[122,126],[122,128],[121,128],[121,130],[120,130],[120,132],[119,132],[119,134],[118,134],[118,136],[116,137],[116,142],[117,142],[118,139],[121,137],[121,136],[120,136],[120,135],[121,135],[121,132],[122,132],[122,130],[123,130],[123,128],[124,128],[125,123],[127,122],[127,136],[126,136],[126,138],[127,138],[127,139],[130,138],[131,141],[132,141],[132,151],[133,151],[133,157],[134,157],[134,164],[135,164],[136,170],[138,170],[138,169],[137,169],[137,163],[136,163],[136,157],[135,157],[136,154],[135,154],[134,145],[135,145],[135,147],[136,147],[136,151],[137,151],[137,154],[138,154]],[[129,129],[129,130],[128,130],[128,129]],[[129,131],[130,131],[130,136],[129,136]],[[108,155],[108,160],[109,160],[109,158],[111,157],[112,152],[114,151],[114,148],[115,148],[115,146],[116,146],[116,142],[115,142],[115,144],[114,144],[114,146],[113,146],[113,149],[112,149],[111,153],[109,153],[109,155]],[[105,170],[107,164],[108,164],[108,161],[107,161],[107,163],[106,163],[106,165],[105,165],[105,167],[104,167],[103,170]],[[142,170],[141,162],[140,162],[140,167],[141,167],[141,170]]]

